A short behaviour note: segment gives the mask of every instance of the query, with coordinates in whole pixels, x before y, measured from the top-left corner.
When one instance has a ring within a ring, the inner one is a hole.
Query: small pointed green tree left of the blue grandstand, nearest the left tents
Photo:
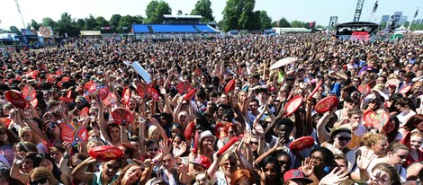
[[[67,33],[68,37],[76,37],[80,33],[80,30],[76,27],[75,20],[68,13],[61,14],[54,30],[58,31],[60,36],[65,36],[65,33]]]

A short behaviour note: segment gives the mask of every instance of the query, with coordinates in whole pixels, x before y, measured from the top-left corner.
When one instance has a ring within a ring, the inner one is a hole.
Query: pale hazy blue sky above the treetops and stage
[[[42,22],[45,17],[58,21],[62,13],[72,18],[103,16],[109,20],[112,14],[146,16],[146,7],[150,0],[17,0],[25,25],[31,20]],[[172,8],[172,14],[178,10],[191,13],[197,0],[165,0]],[[423,9],[423,0],[379,0],[376,13],[372,13],[376,0],[365,0],[360,18],[362,22],[379,23],[382,15],[403,11],[411,21],[416,9]],[[282,17],[289,22],[316,21],[318,25],[327,26],[330,16],[338,16],[338,22],[352,22],[357,0],[256,0],[255,10],[265,10],[273,21]],[[15,4],[15,0],[2,0],[0,10],[0,29],[9,30],[10,26],[23,28],[23,22]],[[211,10],[216,21],[223,18],[222,11],[226,1],[211,0]],[[419,10],[417,19],[423,18],[423,10]]]

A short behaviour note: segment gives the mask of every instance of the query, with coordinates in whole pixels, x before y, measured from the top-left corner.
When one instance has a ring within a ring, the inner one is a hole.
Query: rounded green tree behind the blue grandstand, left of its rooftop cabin
[[[172,9],[170,8],[169,4],[165,1],[160,0],[153,0],[149,2],[146,8],[146,22],[147,23],[160,23],[163,22],[163,15],[164,14],[171,14]]]

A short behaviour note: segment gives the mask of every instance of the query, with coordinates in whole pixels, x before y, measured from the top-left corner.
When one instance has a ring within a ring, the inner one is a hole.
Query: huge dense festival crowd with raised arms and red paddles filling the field
[[[0,60],[0,184],[418,184],[422,46],[307,33],[12,53]],[[297,60],[270,69],[286,57]],[[28,89],[26,107],[6,96]],[[68,141],[69,126],[86,139]],[[104,145],[119,158],[93,155]]]

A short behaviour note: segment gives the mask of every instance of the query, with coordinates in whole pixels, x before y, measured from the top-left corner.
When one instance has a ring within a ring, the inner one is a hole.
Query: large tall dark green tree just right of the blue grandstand
[[[254,19],[255,4],[255,0],[228,0],[222,12],[222,30],[246,29],[248,22]]]

